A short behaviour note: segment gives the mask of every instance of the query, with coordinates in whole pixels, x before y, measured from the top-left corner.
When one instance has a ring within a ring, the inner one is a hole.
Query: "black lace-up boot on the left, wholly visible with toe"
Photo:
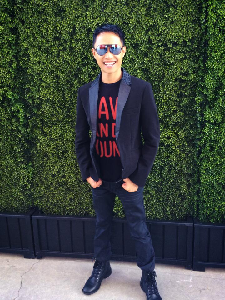
[[[102,280],[112,274],[112,269],[109,260],[100,262],[95,261],[93,266],[92,275],[85,283],[82,292],[86,295],[93,294],[98,291],[101,286]]]

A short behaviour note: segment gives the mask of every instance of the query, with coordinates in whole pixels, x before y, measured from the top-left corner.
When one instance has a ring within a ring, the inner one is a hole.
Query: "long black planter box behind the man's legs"
[[[93,258],[95,217],[32,215],[37,258],[63,256]],[[146,221],[152,236],[156,262],[192,268],[193,222]],[[114,218],[112,260],[136,261],[136,251],[126,219]]]

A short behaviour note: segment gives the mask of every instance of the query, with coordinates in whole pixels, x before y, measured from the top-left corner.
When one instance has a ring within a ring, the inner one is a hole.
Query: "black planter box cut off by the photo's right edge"
[[[194,219],[193,270],[225,268],[225,224],[203,223]]]

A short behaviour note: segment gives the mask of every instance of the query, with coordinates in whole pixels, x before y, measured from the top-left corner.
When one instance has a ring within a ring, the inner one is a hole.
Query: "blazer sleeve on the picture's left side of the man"
[[[88,124],[87,115],[83,108],[80,97],[80,88],[78,89],[77,98],[77,118],[76,118],[76,138],[75,148],[78,165],[81,171],[82,180],[87,181],[86,178],[90,176],[89,167],[91,165],[90,142],[89,137],[90,126]]]

